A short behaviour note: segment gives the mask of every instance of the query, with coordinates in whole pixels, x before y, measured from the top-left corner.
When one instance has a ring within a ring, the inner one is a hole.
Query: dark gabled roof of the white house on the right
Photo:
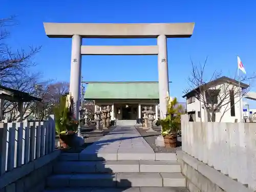
[[[234,86],[237,86],[237,87],[239,86],[239,82],[238,82],[237,80],[231,79],[231,78],[226,77],[226,76],[223,76],[223,77],[220,77],[220,78],[218,78],[218,79],[209,81],[209,82],[205,83],[204,86],[205,86],[206,88],[211,88],[211,87],[217,86],[218,84],[222,84],[222,83],[231,83],[231,84],[233,84]],[[247,89],[247,88],[249,87],[249,85],[248,85],[248,84],[245,84],[245,83],[243,83],[243,82],[240,82],[240,87],[241,87],[242,89]],[[186,93],[186,94],[183,95],[182,97],[184,98],[184,97],[187,97],[187,96],[190,96],[190,95],[194,95],[194,94],[198,93],[199,90],[200,90],[200,88],[198,87],[198,88],[196,88],[196,89],[194,89],[194,90],[191,90],[190,92]]]

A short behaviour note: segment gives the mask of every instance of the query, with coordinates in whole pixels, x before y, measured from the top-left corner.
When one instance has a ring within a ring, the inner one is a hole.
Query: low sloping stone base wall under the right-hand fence
[[[176,154],[189,192],[253,192],[242,183],[182,151]]]

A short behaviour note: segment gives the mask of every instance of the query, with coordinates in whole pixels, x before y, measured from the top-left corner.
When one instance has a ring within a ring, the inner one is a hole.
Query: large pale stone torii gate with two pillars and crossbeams
[[[70,92],[79,116],[81,55],[158,55],[160,118],[166,116],[169,94],[166,38],[190,37],[194,23],[177,24],[68,24],[44,23],[51,38],[72,38]],[[157,38],[156,46],[82,46],[82,38]]]

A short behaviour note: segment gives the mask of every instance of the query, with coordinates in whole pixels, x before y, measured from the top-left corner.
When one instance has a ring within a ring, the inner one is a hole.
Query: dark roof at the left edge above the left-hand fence
[[[0,86],[0,98],[9,101],[41,101],[40,98],[33,97],[29,93],[7,88],[4,86]]]

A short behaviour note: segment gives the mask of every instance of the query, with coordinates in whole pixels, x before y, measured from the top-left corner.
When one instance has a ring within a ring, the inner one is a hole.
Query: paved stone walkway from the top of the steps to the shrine
[[[79,157],[81,160],[155,160],[155,153],[134,126],[117,126],[85,148]]]

